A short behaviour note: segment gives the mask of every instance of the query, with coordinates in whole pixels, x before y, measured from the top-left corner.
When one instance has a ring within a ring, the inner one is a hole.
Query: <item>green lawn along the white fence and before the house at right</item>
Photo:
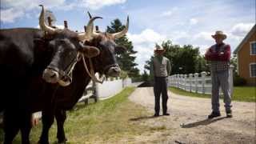
[[[199,97],[199,98],[210,98],[210,94],[196,94],[190,93],[185,90],[181,90],[175,87],[169,87],[169,90],[175,94]],[[221,96],[222,97],[222,96]],[[240,102],[256,102],[256,88],[254,86],[235,86],[234,94],[232,99]]]

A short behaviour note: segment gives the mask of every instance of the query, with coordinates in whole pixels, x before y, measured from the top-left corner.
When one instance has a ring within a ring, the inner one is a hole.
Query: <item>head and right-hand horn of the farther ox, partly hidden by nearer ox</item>
[[[115,58],[117,51],[126,50],[123,46],[118,46],[114,39],[121,38],[124,36],[129,28],[129,17],[127,17],[126,27],[115,34],[110,34],[107,32],[94,32],[91,31],[93,39],[86,41],[85,45],[95,46],[100,50],[98,56],[91,58],[94,65],[94,70],[100,74],[106,74],[111,77],[118,77],[121,73],[121,69],[118,66],[118,62]],[[94,74],[91,74],[94,77]]]

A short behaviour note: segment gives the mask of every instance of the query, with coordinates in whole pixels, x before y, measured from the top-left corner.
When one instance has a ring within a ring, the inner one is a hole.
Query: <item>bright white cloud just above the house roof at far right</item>
[[[231,34],[238,37],[244,37],[253,26],[254,23],[238,23],[232,27]]]

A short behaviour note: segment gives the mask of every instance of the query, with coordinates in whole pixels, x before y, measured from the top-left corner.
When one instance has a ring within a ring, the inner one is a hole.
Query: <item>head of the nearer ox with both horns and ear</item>
[[[42,6],[42,5],[41,5]],[[46,34],[52,38],[48,42],[48,47],[53,50],[52,60],[49,66],[43,71],[42,78],[46,82],[59,83],[61,86],[68,86],[72,80],[70,74],[78,62],[79,55],[83,54],[87,58],[95,57],[99,54],[98,48],[94,46],[84,46],[83,41],[90,40],[90,27],[93,28],[93,21],[99,17],[91,18],[85,34],[77,34],[74,31],[56,29],[47,26],[44,22],[44,8],[39,17],[39,26]]]

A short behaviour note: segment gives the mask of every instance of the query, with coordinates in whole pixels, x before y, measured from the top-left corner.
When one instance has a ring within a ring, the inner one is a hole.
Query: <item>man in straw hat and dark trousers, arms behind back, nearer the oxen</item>
[[[156,45],[154,49],[154,59],[151,65],[150,74],[154,76],[154,117],[159,116],[160,110],[160,95],[162,94],[162,114],[167,113],[167,88],[168,75],[170,75],[170,60],[163,56],[164,50]]]

